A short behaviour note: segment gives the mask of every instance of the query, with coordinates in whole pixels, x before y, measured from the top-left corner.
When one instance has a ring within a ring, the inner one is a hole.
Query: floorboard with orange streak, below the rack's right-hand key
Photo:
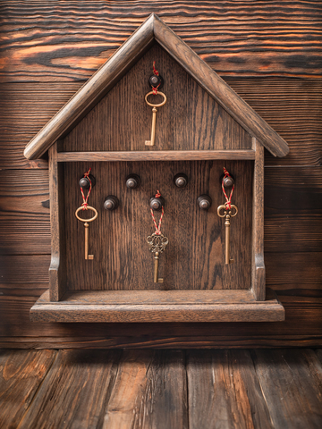
[[[196,350],[187,357],[189,427],[272,428],[248,350]]]

